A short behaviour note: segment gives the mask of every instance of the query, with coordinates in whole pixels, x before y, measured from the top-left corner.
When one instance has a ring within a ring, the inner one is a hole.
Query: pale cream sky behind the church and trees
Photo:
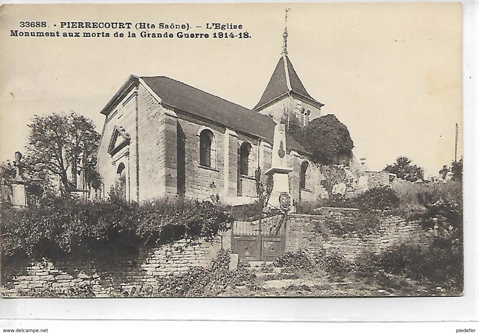
[[[454,158],[456,122],[462,155],[459,3],[21,5],[1,10],[0,160],[24,151],[34,114],[74,110],[101,131],[101,109],[130,74],[169,76],[252,108],[279,59],[286,7],[299,78],[349,128],[371,170],[405,155],[437,174]],[[251,38],[196,28],[210,38],[10,37],[21,20],[52,31],[61,21],[236,23]]]

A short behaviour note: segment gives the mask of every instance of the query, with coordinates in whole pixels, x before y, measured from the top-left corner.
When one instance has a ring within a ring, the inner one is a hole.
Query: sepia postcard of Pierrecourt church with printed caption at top
[[[460,3],[0,8],[1,295],[463,294]]]

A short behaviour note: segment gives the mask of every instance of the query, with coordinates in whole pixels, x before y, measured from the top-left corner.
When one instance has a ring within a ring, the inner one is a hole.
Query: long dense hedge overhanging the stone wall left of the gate
[[[114,195],[97,202],[51,196],[24,209],[4,204],[1,250],[4,256],[33,259],[134,255],[143,245],[180,238],[211,240],[230,226],[225,209],[198,200],[138,205]]]

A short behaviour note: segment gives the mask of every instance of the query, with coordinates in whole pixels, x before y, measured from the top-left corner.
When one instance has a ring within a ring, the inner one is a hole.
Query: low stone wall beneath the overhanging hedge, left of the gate
[[[187,241],[180,240],[158,248],[142,249],[135,258],[108,258],[101,265],[87,259],[2,264],[1,295],[15,297],[21,290],[63,291],[90,284],[96,297],[111,297],[115,290],[155,287],[162,276],[181,274],[189,267],[207,266],[222,247],[231,248],[230,234],[224,233],[212,243],[200,241],[188,245]]]

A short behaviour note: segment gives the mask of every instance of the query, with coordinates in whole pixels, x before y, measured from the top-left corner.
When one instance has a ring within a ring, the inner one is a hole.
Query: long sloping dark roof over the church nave
[[[267,115],[261,115],[166,76],[141,77],[141,79],[161,98],[162,103],[188,114],[209,119],[235,131],[252,134],[273,144],[276,123]],[[289,135],[286,135],[286,148],[308,153]]]

